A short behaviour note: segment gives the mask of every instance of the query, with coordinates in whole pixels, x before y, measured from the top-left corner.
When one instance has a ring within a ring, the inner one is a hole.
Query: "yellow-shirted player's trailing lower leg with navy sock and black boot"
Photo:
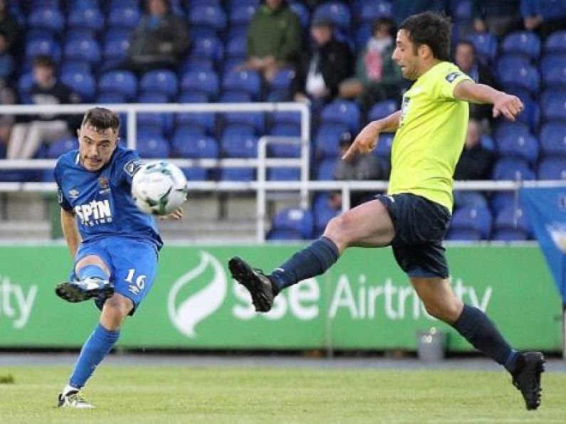
[[[423,301],[426,312],[450,324],[472,346],[505,366],[513,376],[513,384],[525,398],[527,409],[540,406],[543,354],[520,354],[511,349],[495,324],[481,309],[463,304],[454,295],[448,280],[440,277],[411,277],[411,283]]]

